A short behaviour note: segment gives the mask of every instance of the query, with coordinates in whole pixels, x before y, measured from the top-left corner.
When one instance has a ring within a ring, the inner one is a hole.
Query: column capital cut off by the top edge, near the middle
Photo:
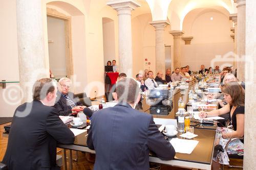
[[[119,11],[122,8],[131,8],[134,10],[137,7],[140,7],[140,4],[134,0],[114,0],[108,1],[106,5],[111,6],[113,9]]]

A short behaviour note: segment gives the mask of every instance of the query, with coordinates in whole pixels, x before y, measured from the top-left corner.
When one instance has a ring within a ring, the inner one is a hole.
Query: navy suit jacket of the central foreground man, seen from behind
[[[94,112],[91,118],[87,144],[96,151],[94,169],[150,169],[150,151],[160,159],[174,159],[172,144],[160,133],[150,114],[118,103]]]

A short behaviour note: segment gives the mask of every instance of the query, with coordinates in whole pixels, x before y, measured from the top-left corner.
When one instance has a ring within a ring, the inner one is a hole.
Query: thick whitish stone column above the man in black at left
[[[16,17],[19,84],[24,103],[32,101],[34,82],[50,75],[46,69],[41,0],[17,0]]]

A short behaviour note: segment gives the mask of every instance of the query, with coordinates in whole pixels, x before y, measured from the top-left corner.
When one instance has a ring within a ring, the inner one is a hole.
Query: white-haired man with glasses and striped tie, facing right
[[[61,78],[58,83],[57,100],[53,107],[58,110],[59,115],[68,116],[73,112],[83,110],[81,102],[74,98],[74,93],[70,92],[71,80],[68,78]]]

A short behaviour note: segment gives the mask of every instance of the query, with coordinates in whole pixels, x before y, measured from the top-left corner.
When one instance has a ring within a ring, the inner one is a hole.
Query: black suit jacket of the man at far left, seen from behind
[[[74,139],[55,108],[38,100],[24,103],[14,113],[3,163],[9,170],[59,169],[57,142],[68,144]]]

